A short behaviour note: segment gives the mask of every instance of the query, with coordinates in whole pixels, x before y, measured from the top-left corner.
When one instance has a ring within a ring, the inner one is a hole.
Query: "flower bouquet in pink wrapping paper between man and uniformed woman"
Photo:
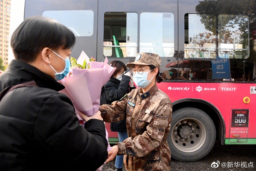
[[[80,111],[87,116],[93,116],[99,111],[101,88],[115,70],[115,67],[108,65],[108,58],[104,62],[96,62],[95,58],[89,58],[84,51],[78,60],[71,57],[70,73],[59,81],[65,86],[60,93],[66,94],[72,100],[80,124],[85,123],[79,116]],[[106,138],[108,140],[107,130]],[[110,149],[108,144],[108,151]]]

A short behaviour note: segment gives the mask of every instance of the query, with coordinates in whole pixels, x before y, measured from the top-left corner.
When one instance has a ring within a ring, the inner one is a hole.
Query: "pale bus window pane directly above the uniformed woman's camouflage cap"
[[[174,14],[143,12],[140,14],[140,52],[174,55]]]

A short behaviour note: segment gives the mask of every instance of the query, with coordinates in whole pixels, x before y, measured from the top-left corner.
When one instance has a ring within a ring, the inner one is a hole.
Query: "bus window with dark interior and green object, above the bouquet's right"
[[[106,43],[106,41],[111,41],[112,44]],[[105,56],[116,58],[135,57],[137,42],[138,14],[136,12],[105,13],[103,47],[104,55],[106,52]],[[110,50],[111,54],[107,55]]]

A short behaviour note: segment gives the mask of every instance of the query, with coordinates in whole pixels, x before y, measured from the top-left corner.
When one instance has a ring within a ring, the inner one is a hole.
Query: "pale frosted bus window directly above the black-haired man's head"
[[[92,10],[45,11],[42,15],[67,26],[77,37],[93,35]]]

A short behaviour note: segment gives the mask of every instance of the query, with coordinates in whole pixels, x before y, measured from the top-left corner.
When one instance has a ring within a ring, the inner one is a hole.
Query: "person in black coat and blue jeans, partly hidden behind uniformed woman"
[[[102,87],[100,105],[118,101],[127,93],[130,93],[131,90],[135,89],[133,76],[131,72],[125,73],[127,68],[122,61],[114,60],[110,65],[116,67],[116,70],[110,80]],[[120,122],[111,123],[110,129],[118,133],[119,142],[128,138],[125,119]],[[122,171],[122,163],[123,155],[116,156],[116,171]]]

